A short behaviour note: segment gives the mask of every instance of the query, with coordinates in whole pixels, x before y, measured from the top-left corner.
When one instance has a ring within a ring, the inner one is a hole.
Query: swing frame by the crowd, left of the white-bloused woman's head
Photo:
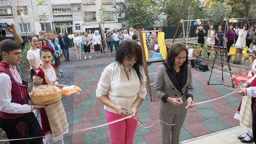
[[[106,37],[105,37],[105,34],[104,34],[104,31],[102,29],[102,26],[101,26],[101,23],[96,23],[96,24],[82,24],[82,25],[70,25],[70,26],[65,26],[66,28],[66,31],[67,31],[67,28],[68,27],[76,27],[76,26],[82,26],[82,27],[86,27],[85,29],[90,29],[90,27],[94,27],[94,29],[96,30],[96,27],[99,27],[99,32],[100,32],[100,36],[101,36],[101,40],[102,40],[102,51],[104,52],[105,50],[105,47],[107,48],[107,51],[108,51],[108,56],[111,58],[111,53],[108,49],[108,45],[107,45],[107,41],[106,41]],[[105,43],[105,44],[104,44]]]

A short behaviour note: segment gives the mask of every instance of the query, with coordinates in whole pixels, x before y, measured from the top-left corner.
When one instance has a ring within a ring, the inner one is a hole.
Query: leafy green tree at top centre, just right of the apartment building
[[[128,22],[128,27],[142,28],[155,26],[159,20],[159,9],[154,0],[125,0],[114,6],[119,17]]]

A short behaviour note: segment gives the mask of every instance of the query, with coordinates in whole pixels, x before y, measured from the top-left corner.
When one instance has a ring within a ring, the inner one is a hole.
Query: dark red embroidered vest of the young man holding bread
[[[17,71],[19,72],[19,69],[16,67]],[[18,83],[12,75],[12,72],[9,69],[9,64],[5,63],[3,61],[0,62],[0,72],[4,72],[7,75],[9,75],[11,81],[12,81],[12,89],[11,89],[11,94],[12,94],[12,103],[17,103],[17,104],[28,104],[29,102],[29,93],[27,92],[27,87],[28,83],[25,81],[22,81],[23,84]],[[0,117],[1,118],[6,118],[6,119],[12,119],[12,118],[19,118],[25,113],[6,113],[6,112],[0,112]]]

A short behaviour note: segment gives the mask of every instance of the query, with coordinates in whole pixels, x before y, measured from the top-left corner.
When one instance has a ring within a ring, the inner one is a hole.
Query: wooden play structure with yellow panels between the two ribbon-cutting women
[[[157,41],[158,41],[158,45],[159,45],[159,52],[156,52],[152,55],[152,58],[148,58],[148,47],[146,44],[146,35],[145,32],[158,32],[157,35]],[[145,75],[146,75],[146,85],[148,88],[148,94],[150,97],[150,101],[153,101],[152,98],[152,92],[151,92],[151,85],[154,84],[150,84],[150,79],[149,79],[149,75],[154,75],[156,73],[148,73],[148,64],[151,63],[159,63],[159,62],[163,62],[164,59],[166,59],[167,56],[167,50],[166,50],[166,44],[164,42],[164,32],[161,32],[160,30],[154,30],[154,31],[139,31],[139,35],[140,35],[140,47],[142,49],[142,56],[143,56],[143,67],[145,70]]]

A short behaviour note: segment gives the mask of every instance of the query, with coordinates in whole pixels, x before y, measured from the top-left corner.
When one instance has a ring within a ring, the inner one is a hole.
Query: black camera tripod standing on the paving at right
[[[224,42],[224,34],[219,34],[218,37],[219,37],[220,41],[218,43],[218,47],[217,47],[217,50],[215,52],[215,58],[214,58],[213,63],[212,63],[212,70],[214,69],[214,64],[215,64],[216,58],[218,56],[218,52],[220,51],[220,56],[221,56],[221,75],[222,75],[222,77],[221,77],[221,83],[219,83],[219,84],[222,84],[224,86],[229,86],[229,85],[223,84],[223,82],[224,82],[224,77],[223,77],[224,55],[225,55],[226,59],[228,59],[227,47],[226,47],[226,43]],[[223,48],[220,47],[221,43],[223,44]],[[231,78],[232,75],[231,75],[231,68],[230,68],[229,61],[227,61],[227,66],[228,66],[228,69],[230,71],[230,78]],[[209,77],[209,81],[207,81],[207,84],[208,85],[215,85],[215,84],[210,84],[211,76],[212,76],[212,71],[211,71],[211,74],[210,74],[210,77]],[[232,82],[232,86],[230,86],[230,87],[235,87],[235,84],[233,84],[233,80],[232,79],[231,79],[231,82]]]

